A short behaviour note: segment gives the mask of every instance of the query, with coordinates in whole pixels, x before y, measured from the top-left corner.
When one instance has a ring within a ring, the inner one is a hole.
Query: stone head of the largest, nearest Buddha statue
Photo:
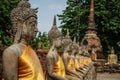
[[[18,43],[21,39],[32,40],[37,31],[37,15],[28,2],[21,0],[17,7],[11,11],[11,23],[15,35],[14,42]]]

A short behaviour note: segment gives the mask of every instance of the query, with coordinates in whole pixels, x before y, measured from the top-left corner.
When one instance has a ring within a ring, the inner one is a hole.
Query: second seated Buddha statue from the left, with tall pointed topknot
[[[62,34],[57,28],[55,16],[53,26],[48,32],[48,38],[50,40],[50,49],[46,56],[47,80],[68,80],[66,78],[62,54],[58,52],[62,47]]]

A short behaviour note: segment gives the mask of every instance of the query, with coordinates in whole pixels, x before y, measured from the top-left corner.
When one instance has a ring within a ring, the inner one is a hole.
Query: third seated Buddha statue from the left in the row
[[[68,30],[67,30],[67,35],[62,40],[62,42],[64,46],[63,62],[65,65],[66,76],[68,77],[69,80],[79,80],[79,75],[75,71],[74,62],[71,58],[70,46],[71,46],[72,40],[70,39]]]

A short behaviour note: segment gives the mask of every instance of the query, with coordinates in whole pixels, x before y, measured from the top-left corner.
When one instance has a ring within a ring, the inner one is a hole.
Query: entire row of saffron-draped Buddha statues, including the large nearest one
[[[28,0],[21,0],[11,11],[11,22],[14,30],[14,44],[3,52],[2,80],[95,80],[94,63],[87,46],[79,46],[69,31],[64,38],[56,26],[48,33],[50,49],[46,56],[46,71],[29,42],[38,31],[37,16]],[[64,46],[64,52],[58,50]],[[91,52],[93,53],[93,52]],[[95,59],[94,59],[95,60]]]

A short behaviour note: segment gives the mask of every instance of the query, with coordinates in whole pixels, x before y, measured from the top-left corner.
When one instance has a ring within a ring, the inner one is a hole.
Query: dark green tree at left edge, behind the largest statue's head
[[[0,0],[0,46],[12,43],[10,12],[19,0]]]

